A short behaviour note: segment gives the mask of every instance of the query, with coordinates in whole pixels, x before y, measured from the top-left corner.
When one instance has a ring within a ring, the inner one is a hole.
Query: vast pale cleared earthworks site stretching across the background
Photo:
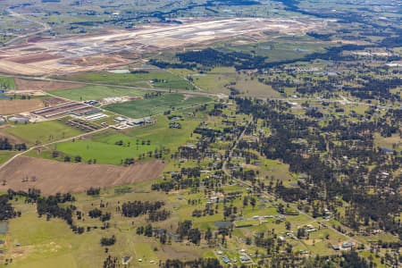
[[[0,71],[38,76],[94,71],[131,63],[144,53],[210,44],[220,39],[258,40],[264,38],[264,32],[303,35],[327,24],[306,18],[197,18],[182,22],[73,38],[33,38],[23,45],[0,48]]]

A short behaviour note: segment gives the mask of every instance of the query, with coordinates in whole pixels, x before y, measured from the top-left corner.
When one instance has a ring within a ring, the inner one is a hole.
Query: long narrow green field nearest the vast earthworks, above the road
[[[193,86],[180,76],[168,71],[150,71],[148,73],[110,73],[85,72],[59,77],[63,80],[76,80],[105,85],[141,87],[144,82],[155,88],[192,89]]]

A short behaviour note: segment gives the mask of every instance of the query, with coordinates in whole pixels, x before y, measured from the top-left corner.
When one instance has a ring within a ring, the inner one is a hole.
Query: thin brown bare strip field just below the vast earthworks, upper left
[[[15,79],[15,85],[18,90],[56,90],[56,89],[71,89],[82,88],[81,84],[63,83],[55,81],[39,81],[39,80],[24,80]]]

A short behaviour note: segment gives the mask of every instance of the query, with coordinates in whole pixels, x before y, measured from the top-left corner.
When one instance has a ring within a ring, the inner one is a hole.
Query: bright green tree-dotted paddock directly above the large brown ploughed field
[[[190,133],[200,122],[199,119],[188,118],[181,121],[182,129],[177,130],[169,128],[169,121],[164,116],[158,116],[156,120],[155,125],[121,132],[106,130],[92,138],[55,144],[52,149],[61,153],[62,161],[63,155],[80,155],[83,162],[96,159],[96,163],[121,164],[126,158],[137,159],[143,155],[149,157],[149,152],[154,153],[155,150],[174,151],[190,140]],[[118,142],[122,142],[122,145],[116,145]],[[165,151],[163,158],[170,156],[167,152]],[[50,152],[42,150],[31,152],[29,155],[53,158]]]

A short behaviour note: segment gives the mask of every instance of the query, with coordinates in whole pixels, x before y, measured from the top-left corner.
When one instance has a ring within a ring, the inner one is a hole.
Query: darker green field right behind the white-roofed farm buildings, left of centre
[[[160,114],[167,110],[202,105],[211,101],[212,99],[207,96],[191,96],[186,98],[181,94],[163,94],[163,96],[157,96],[154,98],[135,100],[122,104],[106,105],[104,108],[131,118],[139,118]]]

